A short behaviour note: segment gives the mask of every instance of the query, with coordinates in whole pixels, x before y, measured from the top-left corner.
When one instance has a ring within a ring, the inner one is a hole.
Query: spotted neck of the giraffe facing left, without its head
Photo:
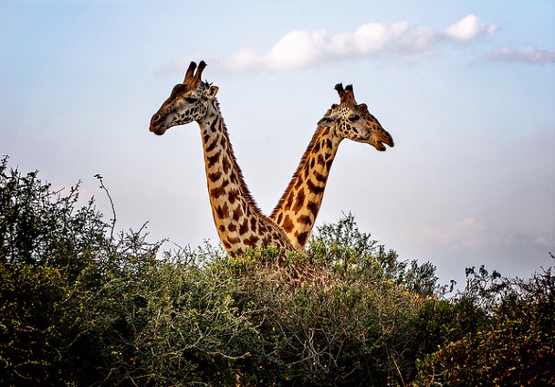
[[[225,250],[229,254],[259,246],[291,250],[287,236],[260,212],[246,186],[216,99],[199,125],[210,205]]]

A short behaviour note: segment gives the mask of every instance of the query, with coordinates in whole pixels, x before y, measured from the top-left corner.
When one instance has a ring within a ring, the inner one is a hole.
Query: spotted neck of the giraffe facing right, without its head
[[[288,188],[270,215],[296,250],[301,250],[309,239],[340,141],[332,129],[317,129]]]

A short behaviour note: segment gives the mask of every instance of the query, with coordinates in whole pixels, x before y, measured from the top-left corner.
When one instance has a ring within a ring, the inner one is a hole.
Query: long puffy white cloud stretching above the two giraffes
[[[442,42],[468,43],[478,37],[493,35],[497,26],[487,26],[478,16],[469,15],[436,31],[427,26],[367,23],[354,32],[330,36],[324,29],[295,30],[282,37],[267,53],[253,48],[237,50],[223,65],[230,71],[247,69],[298,69],[348,58],[390,56],[418,60],[434,53]]]

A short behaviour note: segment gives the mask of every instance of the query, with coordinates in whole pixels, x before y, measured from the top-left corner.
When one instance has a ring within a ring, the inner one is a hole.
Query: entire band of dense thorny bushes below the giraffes
[[[555,384],[551,268],[468,268],[446,298],[351,214],[303,254],[229,257],[162,253],[78,198],[0,164],[1,385]]]

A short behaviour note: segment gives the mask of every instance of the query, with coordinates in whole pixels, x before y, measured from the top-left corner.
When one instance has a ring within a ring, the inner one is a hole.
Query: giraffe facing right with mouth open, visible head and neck
[[[301,250],[308,241],[340,141],[366,142],[380,152],[386,149],[383,143],[393,147],[392,136],[383,130],[366,104],[356,103],[352,85],[343,89],[338,83],[335,89],[340,95],[340,104],[333,104],[319,120],[297,171],[270,214],[296,250]]]

